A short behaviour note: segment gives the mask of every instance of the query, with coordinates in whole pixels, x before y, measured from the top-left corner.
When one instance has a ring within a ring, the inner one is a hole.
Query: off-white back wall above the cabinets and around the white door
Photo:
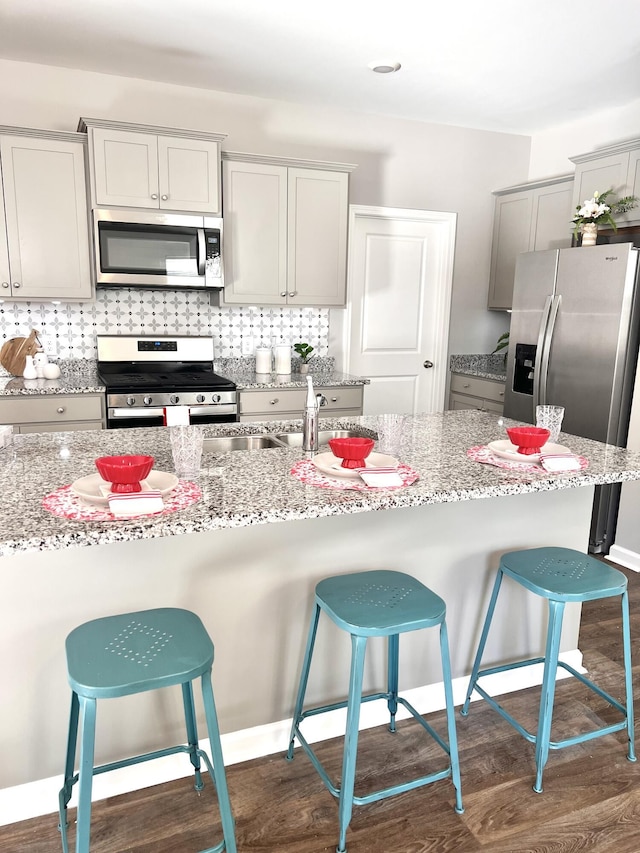
[[[358,164],[351,201],[458,213],[450,350],[490,351],[493,189],[522,181],[529,137],[404,121],[0,60],[3,124],[75,130],[80,116],[227,133],[227,150]]]

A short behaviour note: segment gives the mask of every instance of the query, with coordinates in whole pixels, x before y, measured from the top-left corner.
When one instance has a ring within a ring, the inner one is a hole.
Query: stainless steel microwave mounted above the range
[[[222,219],[95,209],[99,287],[220,289]]]

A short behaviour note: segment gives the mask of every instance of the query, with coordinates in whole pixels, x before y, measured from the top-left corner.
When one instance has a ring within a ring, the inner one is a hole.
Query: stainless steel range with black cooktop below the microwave
[[[191,423],[238,420],[236,386],[213,371],[213,338],[98,336],[107,428],[162,426],[164,409],[188,406]]]

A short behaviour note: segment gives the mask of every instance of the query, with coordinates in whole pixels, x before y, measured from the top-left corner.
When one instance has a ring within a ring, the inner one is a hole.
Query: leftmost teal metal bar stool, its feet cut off
[[[98,773],[178,752],[188,754],[191,760],[196,791],[204,787],[201,762],[206,765],[217,790],[224,837],[220,843],[201,853],[221,853],[223,850],[236,853],[234,821],[211,686],[213,643],[196,614],[167,607],[95,619],[80,625],[69,634],[66,651],[72,694],[64,785],[59,795],[59,829],[64,853],[69,851],[67,805],[76,782],[79,782],[76,853],[89,853],[93,777]],[[202,696],[213,762],[198,745],[192,686],[198,677],[202,678]],[[130,696],[178,684],[182,687],[186,745],[158,749],[99,767],[93,766],[98,699]],[[79,720],[79,771],[74,775]]]

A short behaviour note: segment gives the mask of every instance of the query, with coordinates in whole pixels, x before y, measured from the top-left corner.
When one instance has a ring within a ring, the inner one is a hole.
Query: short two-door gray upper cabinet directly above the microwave
[[[94,207],[219,215],[223,134],[81,119]]]

